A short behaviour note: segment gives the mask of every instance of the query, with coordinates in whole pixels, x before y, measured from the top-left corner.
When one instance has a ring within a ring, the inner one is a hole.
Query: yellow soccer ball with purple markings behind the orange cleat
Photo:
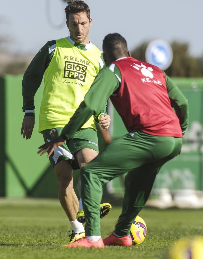
[[[145,240],[147,234],[147,226],[144,220],[136,216],[133,224],[131,225],[130,235],[132,238],[133,245],[138,245]]]

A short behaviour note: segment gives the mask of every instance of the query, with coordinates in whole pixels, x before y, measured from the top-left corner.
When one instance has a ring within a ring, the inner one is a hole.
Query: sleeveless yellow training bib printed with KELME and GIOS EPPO
[[[82,50],[67,38],[56,40],[53,57],[45,70],[39,132],[68,123],[99,72],[100,57],[101,51],[95,45]],[[89,127],[96,129],[93,116],[82,126]]]

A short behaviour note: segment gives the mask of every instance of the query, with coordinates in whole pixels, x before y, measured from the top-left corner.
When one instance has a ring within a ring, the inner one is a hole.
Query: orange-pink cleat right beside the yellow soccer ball
[[[113,233],[110,236],[103,239],[104,245],[118,245],[118,246],[131,246],[132,238],[130,235],[125,237],[116,237]]]

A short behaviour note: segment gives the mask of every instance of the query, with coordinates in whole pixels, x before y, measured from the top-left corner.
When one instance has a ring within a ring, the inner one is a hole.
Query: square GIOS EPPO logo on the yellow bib
[[[75,62],[65,61],[64,78],[78,79],[85,82],[87,66]]]

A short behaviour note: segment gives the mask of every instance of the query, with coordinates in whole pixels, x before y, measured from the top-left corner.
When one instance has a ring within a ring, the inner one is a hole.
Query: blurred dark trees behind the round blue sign
[[[143,42],[133,49],[131,56],[138,60],[145,60],[145,50],[149,42]],[[174,77],[202,77],[203,76],[203,56],[201,58],[189,55],[189,44],[173,41],[173,61],[171,66],[166,69],[166,74]]]

